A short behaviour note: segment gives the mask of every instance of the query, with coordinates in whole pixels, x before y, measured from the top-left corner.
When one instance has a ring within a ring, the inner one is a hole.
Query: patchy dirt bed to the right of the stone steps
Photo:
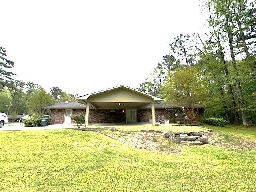
[[[240,138],[234,136],[231,133],[220,132],[218,134],[215,132],[204,132],[205,136],[208,138],[209,144],[214,146],[221,146],[226,148],[235,148],[235,149],[256,149],[256,142],[251,140]]]

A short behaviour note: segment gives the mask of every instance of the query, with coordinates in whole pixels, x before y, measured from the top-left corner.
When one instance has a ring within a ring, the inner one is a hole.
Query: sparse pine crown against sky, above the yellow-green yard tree
[[[169,46],[177,57],[181,57],[182,60],[185,59],[186,66],[194,64],[194,56],[190,53],[192,50],[192,40],[188,34],[180,34]]]

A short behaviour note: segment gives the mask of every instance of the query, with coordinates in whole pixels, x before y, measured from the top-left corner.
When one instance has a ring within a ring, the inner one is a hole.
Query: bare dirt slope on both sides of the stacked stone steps
[[[182,144],[176,144],[169,139],[163,138],[163,133],[137,131],[137,130],[117,130],[116,128],[97,128],[96,132],[100,132],[112,139],[118,140],[124,144],[128,144],[135,148],[178,154],[182,151]],[[208,139],[210,145],[221,146],[236,149],[256,149],[256,142],[239,138],[227,132],[204,131],[204,136]]]

